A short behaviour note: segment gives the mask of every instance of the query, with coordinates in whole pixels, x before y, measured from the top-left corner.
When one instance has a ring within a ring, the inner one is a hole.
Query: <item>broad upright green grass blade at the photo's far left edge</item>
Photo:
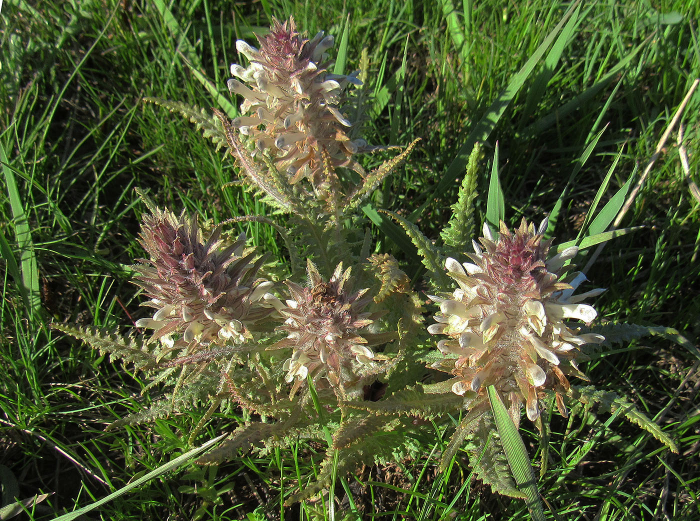
[[[15,223],[15,239],[20,248],[20,271],[22,278],[17,279],[17,283],[24,288],[22,293],[25,298],[25,307],[29,318],[38,316],[41,312],[41,295],[39,293],[39,272],[36,264],[36,256],[34,255],[34,242],[31,240],[31,230],[29,229],[29,221],[25,214],[25,208],[20,197],[20,190],[15,179],[15,172],[8,164],[5,147],[0,143],[0,162],[2,162],[3,176],[7,185],[7,194],[10,199],[10,209],[12,209],[13,221]],[[4,241],[6,243],[6,240]],[[3,244],[4,246],[4,244]],[[9,248],[9,245],[7,245]],[[5,247],[3,247],[5,250]],[[11,251],[8,251],[8,256],[12,256]],[[3,256],[5,256],[3,254]],[[8,260],[8,265],[12,261]],[[15,261],[15,266],[17,262]]]

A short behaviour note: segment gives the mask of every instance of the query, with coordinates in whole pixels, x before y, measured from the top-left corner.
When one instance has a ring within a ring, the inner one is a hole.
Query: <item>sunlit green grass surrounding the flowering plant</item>
[[[372,200],[410,216],[435,239],[449,218],[458,182],[444,183],[439,193],[435,188],[461,148],[471,151],[467,139],[477,122],[493,111],[568,7],[541,1],[330,0],[318,6],[263,1],[243,6],[193,0],[174,3],[169,19],[158,10],[160,2],[74,4],[32,7],[6,0],[0,22],[0,96],[6,100],[0,144],[8,158],[0,182],[0,266],[5,268],[0,464],[8,468],[3,480],[17,480],[20,499],[53,493],[27,507],[29,518],[42,520],[85,506],[186,452],[188,433],[204,412],[104,432],[109,422],[148,403],[148,396],[140,396],[142,382],[129,368],[47,328],[51,320],[117,328],[142,316],[135,286],[128,283],[130,263],[143,255],[134,236],[144,208],[134,188],[175,211],[187,209],[215,221],[269,214],[251,193],[227,184],[236,172],[223,152],[216,153],[193,125],[142,103],[142,97],[214,106],[193,69],[228,97],[228,66],[240,62],[237,38],[252,41],[251,29],[268,27],[273,15],[293,14],[310,34],[327,29],[339,39],[351,13],[347,69],[360,66],[360,51],[366,49],[367,141],[423,139],[405,169]],[[636,165],[646,164],[700,76],[694,22],[699,6],[669,1],[654,8],[611,1],[581,6],[568,39],[547,49],[482,140],[479,211],[485,210],[497,140],[507,219],[517,223],[521,216],[552,211],[566,188],[556,221],[560,239],[576,236],[618,153],[607,198]],[[176,29],[181,34],[174,34]],[[681,120],[695,181],[699,104],[696,92]],[[383,159],[370,156],[365,166]],[[463,165],[456,165],[456,179],[461,179]],[[603,319],[672,326],[694,342],[700,333],[694,291],[700,278],[695,261],[699,204],[688,190],[674,133],[622,223],[645,228],[610,242],[587,272],[596,286],[608,288],[596,303]],[[240,226],[260,249],[283,258],[274,230],[260,223]],[[381,230],[372,232],[382,251],[409,259],[409,252],[382,237]],[[419,266],[409,270],[418,272]],[[662,450],[619,418],[555,419],[540,492],[559,518],[700,516],[698,360],[696,350],[651,338],[591,362],[588,372],[596,383],[629,389],[642,410],[675,433],[680,454]],[[232,429],[239,419],[236,411],[217,413],[197,443]],[[437,454],[449,439],[449,432],[437,430],[435,438],[418,440],[423,459],[358,469],[339,482],[336,518],[514,520],[527,515],[524,503],[498,499],[471,480],[462,453],[447,473],[437,473]],[[607,443],[587,445],[598,439]],[[537,438],[526,440],[537,462]],[[166,519],[181,514],[223,520],[248,515],[262,520],[328,515],[321,499],[281,507],[281,494],[303,486],[318,472],[322,456],[323,447],[300,443],[267,457],[241,454],[239,461],[218,469],[186,466],[90,516]],[[1,503],[10,500],[3,496]]]

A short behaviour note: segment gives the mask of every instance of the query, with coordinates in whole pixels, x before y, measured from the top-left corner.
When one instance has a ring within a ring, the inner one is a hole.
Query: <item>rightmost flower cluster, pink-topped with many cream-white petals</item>
[[[577,367],[579,347],[604,340],[570,323],[595,319],[594,308],[582,300],[603,290],[573,296],[585,277],[563,275],[577,248],[547,259],[551,239],[542,238],[546,228],[546,219],[537,230],[523,220],[514,233],[501,223],[493,237],[484,225],[483,248],[474,242],[475,253],[468,255],[473,263],[447,258],[445,268],[459,287],[433,297],[440,313],[437,324],[428,327],[429,333],[448,337],[437,344],[446,359],[435,368],[454,375],[452,391],[483,394],[493,384],[516,424],[522,403],[528,418],[538,419],[545,390],[554,391],[556,406],[566,416],[567,375],[584,377]]]

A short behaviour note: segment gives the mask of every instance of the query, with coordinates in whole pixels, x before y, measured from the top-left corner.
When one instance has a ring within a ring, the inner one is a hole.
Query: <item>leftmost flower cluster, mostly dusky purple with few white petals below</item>
[[[251,324],[274,312],[272,282],[256,278],[260,261],[244,254],[245,235],[225,248],[221,227],[207,242],[200,235],[196,216],[188,222],[169,211],[144,216],[141,226],[150,259],[138,259],[135,279],[156,312],[136,325],[155,329],[169,347],[239,344],[251,338]]]

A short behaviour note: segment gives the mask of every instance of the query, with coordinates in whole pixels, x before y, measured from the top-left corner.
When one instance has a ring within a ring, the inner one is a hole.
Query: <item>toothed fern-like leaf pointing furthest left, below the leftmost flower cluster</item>
[[[116,331],[92,326],[75,326],[73,324],[52,324],[52,328],[71,335],[78,340],[83,340],[100,354],[109,353],[110,359],[120,359],[125,363],[133,363],[137,369],[149,370],[155,368],[155,354],[148,347],[148,340],[144,336],[123,336]]]

